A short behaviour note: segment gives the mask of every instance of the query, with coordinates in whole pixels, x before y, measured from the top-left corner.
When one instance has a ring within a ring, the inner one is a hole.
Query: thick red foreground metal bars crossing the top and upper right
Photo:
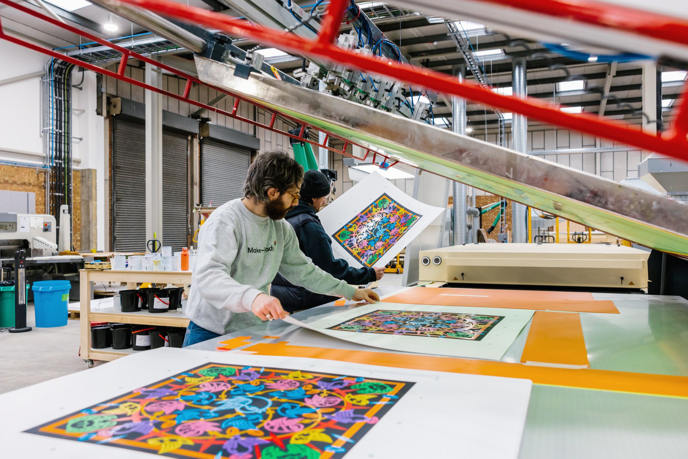
[[[327,41],[327,38],[335,33],[333,29],[341,22],[341,17],[343,16],[345,6],[349,0],[332,0],[330,2],[330,6],[327,9],[330,14],[327,14],[325,19],[323,19],[321,36],[315,40],[303,39],[295,34],[286,34],[280,30],[268,29],[260,25],[252,25],[246,21],[226,17],[223,14],[209,12],[193,6],[184,6],[180,3],[173,3],[166,0],[120,1],[131,3],[132,5],[146,8],[169,17],[174,17],[180,21],[202,23],[209,28],[217,28],[229,34],[253,39],[259,43],[265,43],[281,50],[307,56],[315,56],[323,61],[350,65],[358,70],[389,76],[396,80],[433,89],[436,92],[474,100],[491,107],[497,107],[507,112],[524,114],[529,118],[535,118],[553,125],[574,129],[576,131],[583,131],[593,136],[608,138],[616,142],[622,142],[626,145],[632,145],[649,151],[664,153],[668,156],[674,156],[675,158],[688,160],[688,114],[686,113],[688,105],[686,104],[682,104],[680,113],[672,129],[663,133],[662,136],[656,136],[654,134],[645,134],[637,127],[622,125],[619,122],[610,120],[600,120],[593,114],[564,113],[559,110],[559,105],[548,103],[544,100],[531,97],[520,99],[516,96],[502,96],[490,89],[483,89],[470,81],[459,83],[456,78],[447,74],[413,67],[409,64],[392,62],[386,58],[380,58],[379,56],[356,54]],[[508,3],[513,1],[514,3],[520,4],[520,0],[518,2],[516,0],[487,1],[493,1],[495,3]],[[548,3],[548,0],[524,1],[524,4],[526,4],[528,8],[536,8],[536,6],[544,3]],[[614,11],[616,10],[616,6],[612,7],[604,5],[603,3],[594,3],[585,0],[555,0],[554,3],[561,8],[564,6],[568,7],[568,9],[562,9],[561,11],[552,7],[550,14],[557,14],[557,16],[559,16],[559,14],[570,13],[570,17],[574,19],[587,21],[595,20],[596,23],[601,23],[608,27],[616,27],[618,25],[617,22],[621,20],[620,18],[628,16],[634,18],[634,22],[632,26],[626,26],[624,30],[631,27],[634,32],[639,34],[657,36],[667,41],[676,41],[677,43],[682,43],[685,37],[688,36],[688,23],[663,17],[658,14],[630,10],[629,8],[620,8],[619,12],[623,14],[619,13],[615,22],[612,21],[612,18],[615,17]],[[592,8],[593,6],[595,6],[596,9]],[[577,11],[578,14],[572,14],[574,11]],[[339,14],[340,12],[341,14]],[[605,14],[602,14],[603,12]],[[599,14],[599,16],[594,17],[594,14]],[[645,24],[652,24],[652,26],[641,26],[641,24],[638,23],[640,14],[642,14]],[[667,28],[667,30],[663,30],[663,28]],[[685,98],[685,94],[682,98]]]

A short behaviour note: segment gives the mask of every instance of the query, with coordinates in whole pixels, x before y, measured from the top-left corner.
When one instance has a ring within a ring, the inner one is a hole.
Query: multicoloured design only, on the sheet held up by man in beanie
[[[383,194],[332,237],[365,266],[373,266],[422,215]]]

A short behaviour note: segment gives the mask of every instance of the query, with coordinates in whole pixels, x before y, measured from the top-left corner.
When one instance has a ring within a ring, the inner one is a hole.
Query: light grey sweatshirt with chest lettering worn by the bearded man
[[[255,297],[268,293],[278,271],[292,284],[322,295],[352,299],[356,293],[303,255],[286,220],[259,217],[240,199],[227,202],[198,233],[186,317],[219,334],[257,325],[261,319],[251,305]]]

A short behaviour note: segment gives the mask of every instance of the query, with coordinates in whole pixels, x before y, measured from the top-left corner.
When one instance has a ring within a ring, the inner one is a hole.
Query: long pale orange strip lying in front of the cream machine
[[[476,308],[535,309],[619,314],[611,300],[596,300],[589,292],[495,290],[490,288],[413,287],[384,298],[386,303],[472,306]]]

